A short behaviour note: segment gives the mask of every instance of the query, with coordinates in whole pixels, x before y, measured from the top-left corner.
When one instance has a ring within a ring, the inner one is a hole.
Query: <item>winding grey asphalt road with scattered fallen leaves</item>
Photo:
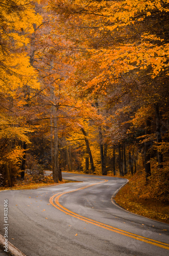
[[[168,255],[169,225],[118,207],[122,178],[63,173],[71,182],[0,192],[0,233],[8,200],[9,241],[26,256]]]

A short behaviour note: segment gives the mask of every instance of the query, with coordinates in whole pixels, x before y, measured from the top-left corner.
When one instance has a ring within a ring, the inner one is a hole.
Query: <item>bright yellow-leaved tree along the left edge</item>
[[[19,171],[20,158],[23,150],[20,141],[27,142],[27,127],[20,127],[19,107],[21,102],[16,100],[20,88],[29,84],[39,88],[37,73],[30,66],[30,60],[24,47],[29,44],[29,33],[33,24],[40,23],[40,15],[34,12],[34,6],[27,1],[3,1],[0,4],[0,100],[1,100],[1,173],[4,184],[13,185],[13,179]],[[9,157],[9,154],[11,157]]]

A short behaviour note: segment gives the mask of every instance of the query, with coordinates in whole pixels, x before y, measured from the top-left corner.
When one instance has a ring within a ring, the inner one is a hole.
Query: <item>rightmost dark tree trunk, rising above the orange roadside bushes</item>
[[[160,132],[160,114],[159,114],[159,105],[155,104],[155,113],[156,113],[156,135],[157,135],[157,143],[160,144],[162,142],[161,132]],[[158,159],[158,168],[163,168],[163,156],[162,153],[157,151],[157,159]]]

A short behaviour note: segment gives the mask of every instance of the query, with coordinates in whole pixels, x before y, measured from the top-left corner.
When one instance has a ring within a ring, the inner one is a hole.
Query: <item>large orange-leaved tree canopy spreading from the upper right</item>
[[[124,108],[133,106],[133,115],[143,105],[161,103],[166,108],[168,4],[168,0],[50,2],[58,14],[57,31],[69,39],[74,53],[67,83],[74,84],[80,97],[105,95],[105,108],[123,109],[124,101]],[[148,118],[152,113],[150,108]]]

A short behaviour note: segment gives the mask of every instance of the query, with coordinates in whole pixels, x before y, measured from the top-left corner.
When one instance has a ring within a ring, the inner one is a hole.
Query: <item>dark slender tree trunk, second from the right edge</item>
[[[145,129],[145,134],[149,135],[151,134],[151,121],[150,119],[146,120],[146,129]],[[151,142],[150,141],[146,141],[145,142],[145,172],[146,172],[146,181],[148,181],[149,176],[151,176],[151,166],[150,166],[150,153],[149,153],[149,149],[151,146]]]

